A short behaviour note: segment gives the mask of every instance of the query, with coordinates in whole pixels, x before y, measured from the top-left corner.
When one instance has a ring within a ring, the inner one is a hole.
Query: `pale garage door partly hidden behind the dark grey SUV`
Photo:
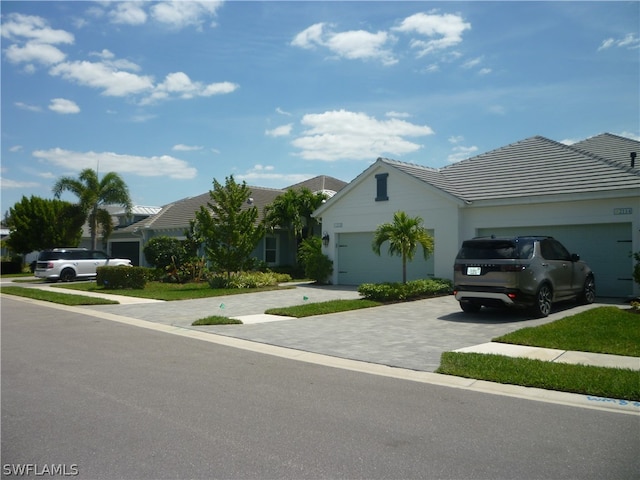
[[[484,228],[478,235],[550,235],[589,264],[598,296],[627,297],[633,292],[630,223]]]

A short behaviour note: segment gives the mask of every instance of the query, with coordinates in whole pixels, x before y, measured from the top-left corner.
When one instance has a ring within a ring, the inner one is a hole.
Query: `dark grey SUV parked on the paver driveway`
[[[553,237],[466,240],[456,257],[453,283],[465,312],[477,312],[482,306],[514,306],[546,317],[554,302],[593,303],[596,297],[591,269]]]

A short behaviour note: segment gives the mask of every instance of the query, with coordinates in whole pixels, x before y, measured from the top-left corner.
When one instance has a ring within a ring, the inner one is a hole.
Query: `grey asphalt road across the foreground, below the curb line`
[[[640,472],[637,415],[296,362],[6,296],[1,309],[3,476],[25,464],[90,479]]]

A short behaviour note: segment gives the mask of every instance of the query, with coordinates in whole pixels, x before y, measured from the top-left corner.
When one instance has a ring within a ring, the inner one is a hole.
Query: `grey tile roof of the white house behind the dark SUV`
[[[640,142],[611,135],[586,144],[593,150],[597,147],[607,158],[588,152],[584,144],[580,149],[535,136],[440,169],[379,160],[463,201],[474,202],[640,189],[640,170],[612,158],[629,145]]]

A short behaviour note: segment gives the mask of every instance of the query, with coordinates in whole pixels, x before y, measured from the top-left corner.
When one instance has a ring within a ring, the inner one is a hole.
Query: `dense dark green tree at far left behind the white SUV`
[[[9,209],[6,245],[15,253],[76,247],[82,236],[82,209],[63,200],[22,197]]]

